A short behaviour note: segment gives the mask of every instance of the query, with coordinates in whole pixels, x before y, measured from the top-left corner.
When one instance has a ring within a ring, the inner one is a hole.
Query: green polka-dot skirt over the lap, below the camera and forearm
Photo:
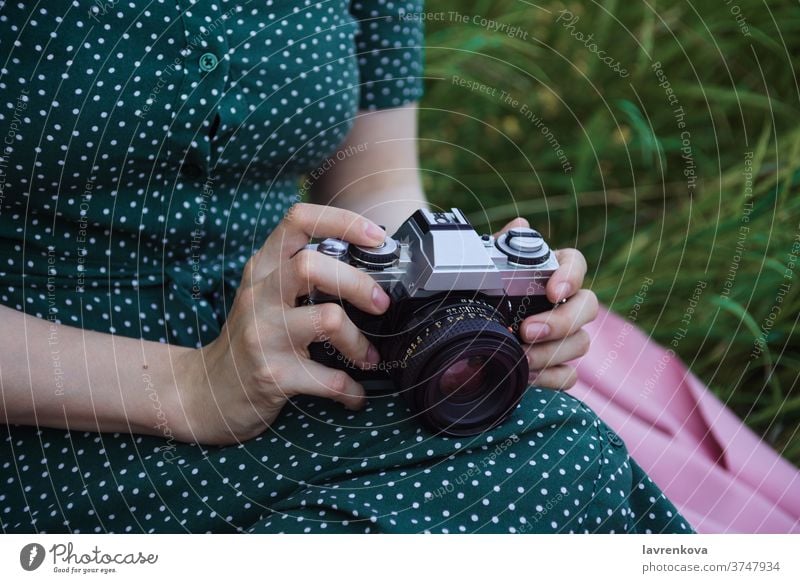
[[[7,532],[689,530],[590,409],[536,388],[465,438],[397,396],[301,398],[238,446],[9,427],[0,456]]]

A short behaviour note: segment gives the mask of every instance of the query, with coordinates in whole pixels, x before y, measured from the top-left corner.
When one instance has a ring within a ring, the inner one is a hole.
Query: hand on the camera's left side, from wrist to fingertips
[[[303,203],[289,209],[245,266],[219,337],[176,360],[178,439],[222,445],[253,438],[295,395],[363,406],[363,387],[346,372],[310,360],[308,345],[329,341],[361,366],[377,364],[378,352],[338,304],[298,307],[297,299],[316,289],[379,315],[389,296],[366,273],[304,250],[311,237],[374,246],[385,233],[344,209]]]

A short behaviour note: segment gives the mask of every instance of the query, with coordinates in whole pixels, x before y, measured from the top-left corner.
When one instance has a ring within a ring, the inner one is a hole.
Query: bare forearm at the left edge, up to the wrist
[[[58,325],[0,306],[0,422],[171,437],[170,347]]]

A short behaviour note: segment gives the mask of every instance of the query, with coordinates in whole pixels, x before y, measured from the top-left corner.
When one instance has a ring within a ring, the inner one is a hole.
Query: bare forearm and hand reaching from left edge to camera
[[[353,362],[378,353],[334,304],[295,306],[315,287],[379,315],[389,297],[368,275],[309,238],[376,245],[384,232],[342,209],[298,204],[245,266],[220,335],[183,348],[56,325],[0,306],[0,423],[119,431],[229,444],[255,437],[295,395],[357,409],[364,390],[310,360],[322,338]]]

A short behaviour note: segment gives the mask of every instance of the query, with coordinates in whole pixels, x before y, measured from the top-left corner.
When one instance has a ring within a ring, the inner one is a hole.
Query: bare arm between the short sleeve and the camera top
[[[311,201],[357,212],[393,233],[427,206],[419,176],[416,104],[361,111],[334,164],[313,181]]]

